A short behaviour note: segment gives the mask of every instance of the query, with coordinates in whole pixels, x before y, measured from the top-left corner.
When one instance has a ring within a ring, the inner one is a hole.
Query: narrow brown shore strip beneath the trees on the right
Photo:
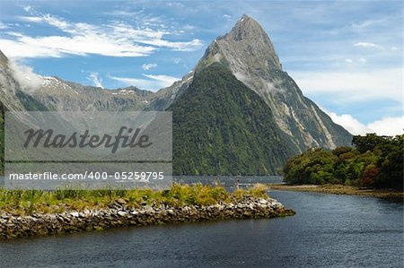
[[[378,198],[387,199],[404,199],[404,193],[395,190],[386,189],[361,189],[356,186],[341,186],[341,185],[270,185],[269,189],[272,190],[285,190],[285,191],[300,191],[300,192],[314,192],[322,194],[333,195],[364,195],[373,196]]]

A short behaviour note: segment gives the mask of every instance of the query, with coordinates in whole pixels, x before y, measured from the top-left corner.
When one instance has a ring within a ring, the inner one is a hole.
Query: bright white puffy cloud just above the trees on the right
[[[324,111],[331,117],[332,121],[338,125],[342,125],[351,134],[367,134],[375,133],[379,135],[397,135],[403,134],[404,117],[382,117],[367,125],[362,124],[351,115],[337,115],[336,113]]]

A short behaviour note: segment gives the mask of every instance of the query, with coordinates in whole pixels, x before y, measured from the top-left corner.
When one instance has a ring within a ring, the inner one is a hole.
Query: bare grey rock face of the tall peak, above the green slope
[[[312,100],[303,96],[282,70],[268,34],[258,22],[243,15],[224,37],[215,39],[199,61],[197,72],[220,62],[271,108],[277,126],[301,151],[308,147],[334,148],[349,144],[351,135],[336,125]]]

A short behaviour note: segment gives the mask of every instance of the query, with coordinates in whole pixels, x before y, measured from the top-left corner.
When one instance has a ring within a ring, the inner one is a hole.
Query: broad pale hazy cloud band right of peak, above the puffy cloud
[[[365,99],[401,101],[402,68],[290,72],[304,94],[328,94],[349,103]]]

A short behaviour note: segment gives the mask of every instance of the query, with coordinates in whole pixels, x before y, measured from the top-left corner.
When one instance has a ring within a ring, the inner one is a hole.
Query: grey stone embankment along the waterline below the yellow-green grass
[[[126,200],[119,199],[111,203],[107,209],[84,209],[83,212],[32,214],[31,216],[15,216],[2,212],[0,240],[171,222],[275,218],[288,215],[294,215],[294,212],[286,209],[277,200],[251,196],[246,196],[237,203],[182,207],[160,204],[144,205],[140,209],[131,208]]]

